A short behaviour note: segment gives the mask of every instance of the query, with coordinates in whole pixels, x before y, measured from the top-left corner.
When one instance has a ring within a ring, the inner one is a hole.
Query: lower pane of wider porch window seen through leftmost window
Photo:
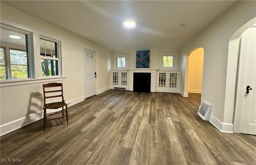
[[[12,79],[28,78],[28,67],[26,65],[11,65]]]

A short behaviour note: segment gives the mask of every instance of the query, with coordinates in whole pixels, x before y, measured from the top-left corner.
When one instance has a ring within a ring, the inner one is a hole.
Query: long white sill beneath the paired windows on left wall
[[[19,86],[26,84],[36,84],[36,83],[48,83],[53,81],[63,81],[66,77],[44,77],[37,79],[13,79],[13,80],[1,80],[0,87],[6,86]]]

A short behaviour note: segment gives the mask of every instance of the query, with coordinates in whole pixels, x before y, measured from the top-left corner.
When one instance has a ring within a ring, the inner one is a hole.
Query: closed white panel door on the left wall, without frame
[[[96,62],[95,51],[84,48],[84,98],[96,94]]]

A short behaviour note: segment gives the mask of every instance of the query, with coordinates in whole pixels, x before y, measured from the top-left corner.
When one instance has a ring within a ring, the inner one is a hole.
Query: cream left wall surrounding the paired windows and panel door
[[[0,14],[1,18],[5,18],[64,39],[64,53],[62,54],[64,54],[65,60],[66,79],[59,82],[63,83],[64,98],[66,102],[74,104],[84,100],[82,45],[88,49],[96,51],[97,53],[97,93],[110,88],[109,71],[112,51],[39,20],[38,18],[30,16],[4,3],[1,3]],[[78,70],[79,73],[75,74],[75,70]],[[42,114],[40,113],[43,105],[42,84],[43,83],[33,83],[18,86],[1,86],[1,135],[42,117]]]

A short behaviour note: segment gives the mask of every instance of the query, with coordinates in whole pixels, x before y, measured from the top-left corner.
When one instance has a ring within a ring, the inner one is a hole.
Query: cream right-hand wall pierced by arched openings
[[[212,123],[215,123],[215,126],[226,124],[230,127],[229,130],[232,130],[232,123],[224,123],[224,118],[232,119],[234,114],[224,116],[228,44],[232,34],[256,16],[255,6],[256,1],[238,1],[181,48],[181,90],[187,92],[186,55],[192,49],[202,47],[204,49],[202,98],[212,104]],[[211,71],[214,71],[214,77],[210,77]]]

